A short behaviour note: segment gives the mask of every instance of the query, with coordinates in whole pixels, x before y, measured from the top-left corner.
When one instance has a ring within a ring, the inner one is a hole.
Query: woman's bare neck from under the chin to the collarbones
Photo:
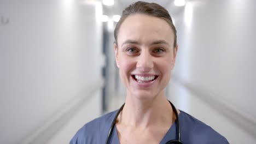
[[[140,100],[127,93],[126,102],[120,115],[120,122],[136,128],[148,128],[151,125],[169,125],[173,123],[174,113],[164,95],[164,91],[155,99]]]

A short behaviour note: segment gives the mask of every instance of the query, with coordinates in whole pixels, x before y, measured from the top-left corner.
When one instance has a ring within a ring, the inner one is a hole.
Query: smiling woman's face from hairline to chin
[[[115,58],[127,97],[164,95],[177,52],[170,25],[158,17],[131,15],[121,24],[117,40]]]

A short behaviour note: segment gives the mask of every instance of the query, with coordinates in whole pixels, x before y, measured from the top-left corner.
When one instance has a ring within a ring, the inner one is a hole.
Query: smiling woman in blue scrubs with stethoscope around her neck
[[[115,59],[127,91],[125,104],[84,125],[71,143],[228,143],[211,127],[167,100],[164,89],[178,45],[168,11],[136,2],[114,31]]]

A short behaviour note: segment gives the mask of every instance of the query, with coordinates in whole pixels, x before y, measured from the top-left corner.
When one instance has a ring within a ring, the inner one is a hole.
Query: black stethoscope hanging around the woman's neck
[[[175,106],[171,103],[171,101],[169,101],[169,103],[171,104],[172,110],[174,111],[174,114],[175,114],[175,117],[176,117],[178,140],[170,140],[170,141],[167,141],[166,144],[171,144],[171,143],[173,143],[173,144],[184,144],[181,141],[181,128],[179,128],[178,112],[177,112]],[[120,107],[120,109],[117,112],[117,115],[115,115],[115,118],[114,118],[114,120],[113,120],[113,122],[111,124],[111,127],[110,127],[109,131],[108,131],[108,137],[107,137],[107,140],[106,140],[106,144],[109,143],[110,137],[112,135],[112,132],[113,132],[113,129],[114,129],[114,126],[115,126],[115,122],[117,121],[117,117],[118,117],[119,113],[123,110],[124,105],[125,105],[125,103]]]

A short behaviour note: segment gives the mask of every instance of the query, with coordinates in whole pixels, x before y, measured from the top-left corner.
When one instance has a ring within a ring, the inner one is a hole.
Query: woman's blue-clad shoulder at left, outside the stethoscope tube
[[[117,111],[113,111],[86,123],[73,136],[70,144],[104,143],[101,141],[107,137],[108,130],[116,113]]]

